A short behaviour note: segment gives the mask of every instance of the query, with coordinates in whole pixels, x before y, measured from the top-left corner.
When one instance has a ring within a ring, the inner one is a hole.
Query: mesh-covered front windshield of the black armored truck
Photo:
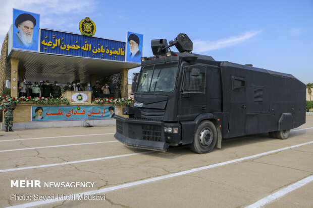
[[[137,92],[172,92],[176,85],[178,63],[143,67]]]

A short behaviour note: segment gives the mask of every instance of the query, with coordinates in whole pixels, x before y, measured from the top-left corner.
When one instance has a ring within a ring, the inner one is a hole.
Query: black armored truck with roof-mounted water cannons
[[[176,46],[179,52],[170,50]],[[269,133],[285,139],[305,123],[305,85],[289,74],[192,53],[192,41],[151,40],[133,75],[134,106],[115,115],[115,138],[130,147],[195,153],[221,148],[222,139]]]

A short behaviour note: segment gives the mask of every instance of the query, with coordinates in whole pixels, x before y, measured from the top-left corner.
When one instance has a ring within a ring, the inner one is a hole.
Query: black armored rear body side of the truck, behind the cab
[[[292,75],[230,62],[222,62],[221,71],[223,111],[229,113],[223,137],[282,130],[280,126],[295,128],[305,123],[305,85]],[[283,113],[291,114],[286,125],[279,124]]]

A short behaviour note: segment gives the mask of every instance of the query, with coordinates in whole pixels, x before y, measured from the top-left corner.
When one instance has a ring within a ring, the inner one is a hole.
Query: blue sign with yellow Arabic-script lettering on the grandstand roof
[[[40,52],[125,61],[125,42],[40,30]]]

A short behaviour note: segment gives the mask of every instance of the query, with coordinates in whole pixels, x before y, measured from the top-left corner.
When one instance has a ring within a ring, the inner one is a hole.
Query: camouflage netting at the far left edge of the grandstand
[[[6,87],[6,69],[8,64],[8,34],[3,42],[0,56],[0,95],[3,96]]]

